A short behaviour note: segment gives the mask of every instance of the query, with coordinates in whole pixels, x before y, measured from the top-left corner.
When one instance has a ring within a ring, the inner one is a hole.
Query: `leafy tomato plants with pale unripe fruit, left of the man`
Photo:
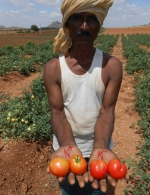
[[[42,78],[33,81],[31,92],[25,93],[22,98],[6,99],[7,101],[0,104],[2,138],[33,140],[52,138],[50,110]]]

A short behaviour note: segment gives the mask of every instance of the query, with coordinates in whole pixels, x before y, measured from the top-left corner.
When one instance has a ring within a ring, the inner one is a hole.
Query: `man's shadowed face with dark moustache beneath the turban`
[[[66,23],[72,42],[93,43],[100,30],[94,14],[82,12],[70,16]]]

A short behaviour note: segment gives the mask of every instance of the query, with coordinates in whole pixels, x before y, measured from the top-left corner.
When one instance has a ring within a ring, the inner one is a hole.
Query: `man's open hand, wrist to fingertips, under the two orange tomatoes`
[[[50,156],[50,160],[52,160],[54,157],[59,156],[59,157],[63,157],[67,160],[70,159],[71,156],[73,155],[82,155],[81,151],[78,149],[78,147],[76,145],[72,145],[72,146],[64,146],[64,147],[60,147],[58,150],[56,150],[54,153],[51,154]],[[47,172],[49,172],[49,168],[47,169]],[[85,182],[88,182],[88,172],[84,173],[83,175],[75,175],[72,172],[69,172],[68,176],[68,181],[70,183],[70,185],[73,185],[75,183],[75,177],[79,183],[79,186],[81,188],[84,187]],[[64,181],[64,177],[58,177],[58,182],[63,182]]]

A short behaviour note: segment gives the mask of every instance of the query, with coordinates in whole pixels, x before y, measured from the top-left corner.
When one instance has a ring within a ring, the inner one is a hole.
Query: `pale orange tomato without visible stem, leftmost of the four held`
[[[69,171],[69,162],[62,157],[54,157],[49,163],[50,173],[57,177],[64,177]]]

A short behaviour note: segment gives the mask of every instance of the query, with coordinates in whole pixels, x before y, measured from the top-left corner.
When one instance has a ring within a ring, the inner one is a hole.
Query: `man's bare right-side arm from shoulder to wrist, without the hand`
[[[112,57],[107,66],[108,84],[94,129],[95,140],[93,148],[109,149],[114,128],[115,105],[122,81],[122,64],[117,58]]]

